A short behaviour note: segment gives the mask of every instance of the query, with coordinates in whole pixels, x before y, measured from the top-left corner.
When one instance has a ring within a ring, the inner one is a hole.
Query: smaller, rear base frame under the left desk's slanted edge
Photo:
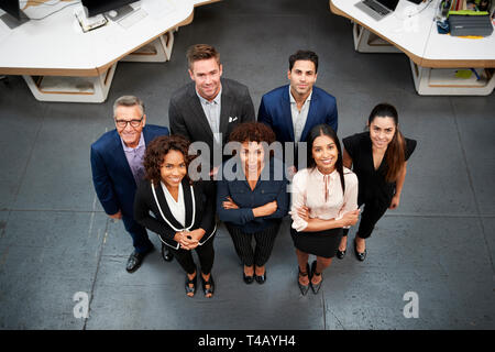
[[[170,30],[164,35],[158,36],[153,42],[123,57],[121,62],[165,63],[172,57],[173,46],[174,30]]]

